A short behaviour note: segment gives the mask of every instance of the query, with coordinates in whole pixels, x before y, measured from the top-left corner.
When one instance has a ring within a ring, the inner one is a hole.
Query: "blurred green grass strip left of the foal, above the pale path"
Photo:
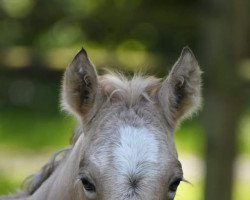
[[[75,121],[59,113],[17,110],[0,113],[0,145],[41,150],[66,146]]]

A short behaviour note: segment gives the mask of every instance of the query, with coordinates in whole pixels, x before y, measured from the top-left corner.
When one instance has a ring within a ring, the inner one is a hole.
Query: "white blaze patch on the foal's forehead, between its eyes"
[[[132,126],[121,127],[119,132],[120,143],[114,152],[118,181],[127,181],[130,175],[155,174],[159,145],[154,133]]]

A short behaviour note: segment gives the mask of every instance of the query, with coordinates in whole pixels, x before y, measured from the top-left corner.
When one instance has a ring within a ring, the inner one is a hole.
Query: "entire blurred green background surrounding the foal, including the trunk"
[[[164,77],[189,45],[204,108],[176,131],[176,199],[250,199],[248,0],[0,0],[0,195],[15,191],[75,120],[59,109],[63,70],[83,46],[98,69]]]

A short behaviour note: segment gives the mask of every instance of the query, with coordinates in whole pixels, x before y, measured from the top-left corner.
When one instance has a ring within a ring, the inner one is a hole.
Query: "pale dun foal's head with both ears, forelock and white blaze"
[[[98,76],[82,49],[62,89],[63,108],[78,119],[84,137],[74,199],[174,199],[183,172],[173,132],[200,106],[200,74],[187,47],[163,81]]]

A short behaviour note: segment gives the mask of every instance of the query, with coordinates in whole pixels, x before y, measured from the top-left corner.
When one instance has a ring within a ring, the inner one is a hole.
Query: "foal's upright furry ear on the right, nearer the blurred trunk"
[[[174,127],[201,106],[201,70],[193,52],[184,47],[158,92],[167,122]]]

